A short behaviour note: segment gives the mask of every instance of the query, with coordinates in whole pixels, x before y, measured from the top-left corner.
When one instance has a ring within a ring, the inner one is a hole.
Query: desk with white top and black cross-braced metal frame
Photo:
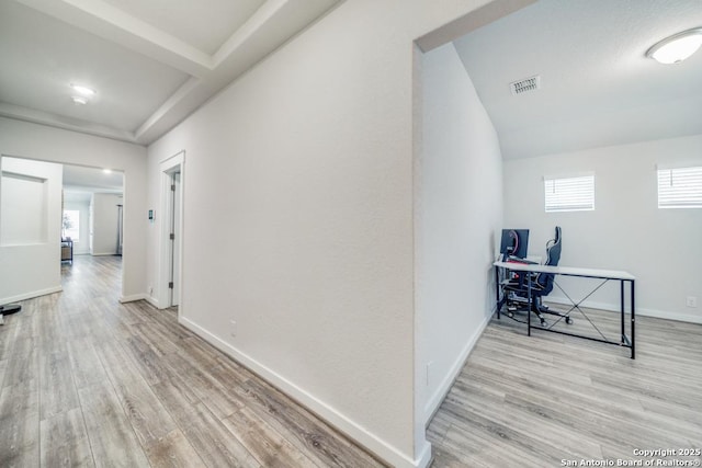
[[[531,274],[526,274],[526,304],[529,305],[529,312],[526,313],[526,327],[528,333],[531,335],[531,330],[544,330],[553,333],[567,334],[570,336],[585,338],[587,340],[599,341],[608,344],[615,344],[619,346],[630,347],[632,350],[632,359],[635,358],[635,306],[634,306],[634,283],[636,277],[627,272],[621,272],[615,270],[596,270],[596,269],[578,269],[573,266],[548,266],[548,265],[539,265],[539,264],[528,264],[528,263],[518,263],[518,262],[495,262],[492,263],[495,266],[495,283],[496,283],[496,299],[497,299],[497,318],[500,318],[500,309],[502,307],[502,299],[500,299],[501,285],[500,285],[500,270],[513,271],[513,272],[525,272],[525,273],[551,273],[554,275],[561,276],[576,276],[576,277],[585,277],[585,278],[596,278],[596,279],[604,279],[608,281],[619,281],[620,282],[620,310],[621,310],[621,340],[620,341],[611,341],[607,339],[598,339],[592,336],[586,336],[581,334],[569,333],[561,330],[553,330],[551,328],[545,327],[535,327],[531,324],[531,304],[532,304],[532,279]],[[624,295],[624,285],[629,283],[630,285],[630,307],[631,307],[631,338],[626,334],[625,330],[625,295]],[[599,286],[598,286],[599,288]],[[596,288],[597,290],[597,288]],[[593,293],[593,292],[592,292]],[[592,294],[590,293],[590,294]],[[579,303],[573,303],[573,307],[568,310],[567,313],[570,313],[574,309],[580,310],[580,304],[587,299],[590,295],[586,296]]]

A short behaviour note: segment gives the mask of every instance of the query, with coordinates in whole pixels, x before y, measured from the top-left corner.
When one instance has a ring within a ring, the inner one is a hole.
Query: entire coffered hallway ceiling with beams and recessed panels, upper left
[[[339,1],[0,0],[0,116],[148,145]]]

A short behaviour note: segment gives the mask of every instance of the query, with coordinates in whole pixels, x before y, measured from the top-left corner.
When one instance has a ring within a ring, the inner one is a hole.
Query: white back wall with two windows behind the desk
[[[506,161],[506,226],[530,228],[529,250],[541,255],[553,227],[562,226],[562,265],[629,271],[638,313],[702,322],[702,209],[657,207],[656,165],[677,163],[702,165],[702,136]],[[544,213],[544,175],[587,171],[596,178],[593,212]],[[577,281],[561,283],[582,297]],[[698,308],[687,307],[688,296]],[[619,310],[616,285],[589,303]]]

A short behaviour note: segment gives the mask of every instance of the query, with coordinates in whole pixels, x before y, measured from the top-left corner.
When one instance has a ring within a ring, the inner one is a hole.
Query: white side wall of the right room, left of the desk
[[[489,321],[502,221],[497,133],[452,43],[423,56],[423,150],[416,186],[418,397],[439,408]]]

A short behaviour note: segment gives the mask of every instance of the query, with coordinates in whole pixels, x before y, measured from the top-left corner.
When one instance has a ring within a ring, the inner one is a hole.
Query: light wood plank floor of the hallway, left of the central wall
[[[383,466],[174,310],[120,305],[120,258],[63,273],[0,327],[0,467]]]

